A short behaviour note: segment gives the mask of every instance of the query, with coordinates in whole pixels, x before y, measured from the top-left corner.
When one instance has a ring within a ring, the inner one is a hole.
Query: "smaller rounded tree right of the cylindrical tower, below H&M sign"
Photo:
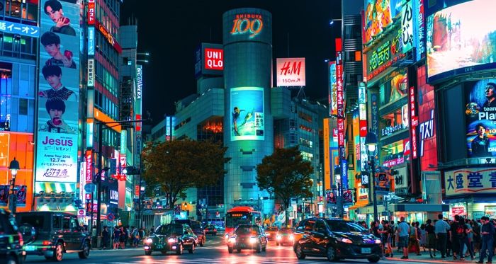
[[[257,165],[257,184],[261,190],[267,190],[271,195],[274,193],[283,202],[286,225],[291,197],[312,197],[312,171],[311,163],[303,161],[298,146],[276,149]]]

